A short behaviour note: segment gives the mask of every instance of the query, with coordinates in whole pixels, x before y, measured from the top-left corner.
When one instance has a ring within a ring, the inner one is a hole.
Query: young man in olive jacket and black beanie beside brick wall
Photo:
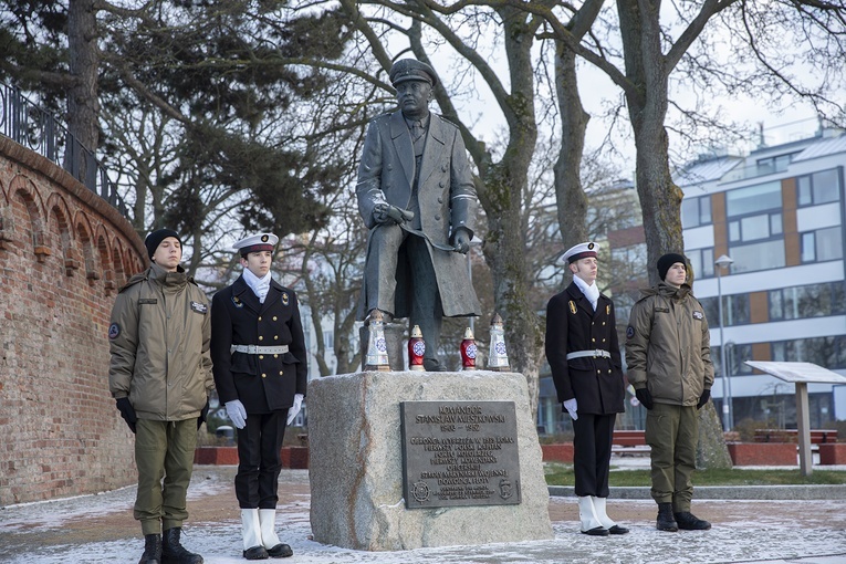
[[[202,556],[181,545],[180,533],[197,429],[213,389],[209,302],[179,264],[175,231],[153,231],[144,244],[152,265],[129,279],[112,309],[108,387],[135,434],[140,563],[200,564]]]

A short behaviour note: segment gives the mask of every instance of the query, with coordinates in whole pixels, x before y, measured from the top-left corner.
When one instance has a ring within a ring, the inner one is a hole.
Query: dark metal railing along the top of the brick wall
[[[27,100],[20,88],[6,84],[0,84],[0,134],[61,166],[124,217],[128,216],[117,182],[108,178],[94,153],[53,114]]]

